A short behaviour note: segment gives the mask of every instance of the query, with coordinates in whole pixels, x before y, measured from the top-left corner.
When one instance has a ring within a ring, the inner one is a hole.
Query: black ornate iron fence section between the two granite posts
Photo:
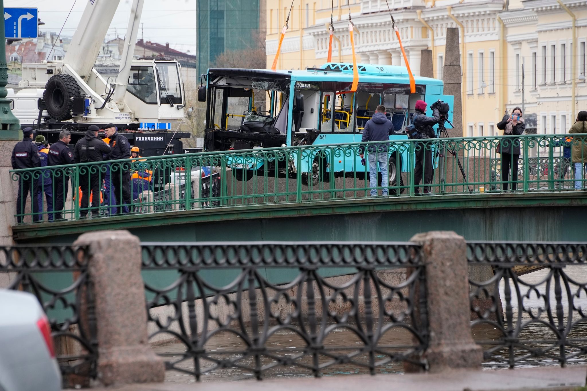
[[[370,373],[391,363],[426,366],[425,276],[416,244],[142,247],[143,275],[157,273],[159,285],[145,285],[150,341],[164,335],[185,349],[161,353],[167,369],[197,379],[236,369],[261,379],[277,366],[315,376],[343,364]],[[389,270],[406,267],[407,278],[390,277]],[[353,341],[341,341],[341,331]],[[280,345],[275,338],[284,333],[290,342]]]

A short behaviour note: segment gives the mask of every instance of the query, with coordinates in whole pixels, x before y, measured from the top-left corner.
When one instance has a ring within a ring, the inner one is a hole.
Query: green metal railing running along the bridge
[[[497,153],[508,146],[519,147],[519,156]],[[585,189],[585,165],[581,162],[581,168],[575,172],[574,162],[565,157],[565,148],[566,152],[578,148],[587,160],[587,134],[299,145],[49,166],[11,173],[22,193],[16,218],[19,223],[26,223],[79,220],[85,215],[106,217],[366,198],[372,193],[369,158],[376,151],[387,155],[389,168],[387,182],[381,183],[382,175],[377,174],[378,195]],[[362,151],[365,165],[360,158]],[[420,162],[422,176],[429,176],[430,183],[417,181],[416,165]],[[516,164],[517,175],[512,175]],[[504,169],[508,166],[510,175],[506,176]],[[88,188],[92,182],[99,186],[96,194],[100,199],[95,208],[92,203],[82,205],[80,199],[81,188]],[[60,203],[58,195],[65,187],[69,191]],[[29,197],[25,202],[27,190]],[[31,206],[31,192],[42,195],[38,205]],[[52,198],[48,193],[52,193]]]

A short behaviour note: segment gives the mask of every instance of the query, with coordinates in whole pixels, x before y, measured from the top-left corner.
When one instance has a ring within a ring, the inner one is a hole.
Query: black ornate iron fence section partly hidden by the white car
[[[87,261],[88,249],[82,246],[0,247],[0,273],[13,274],[8,288],[34,294],[47,314],[64,384],[70,386],[96,377],[96,315]]]

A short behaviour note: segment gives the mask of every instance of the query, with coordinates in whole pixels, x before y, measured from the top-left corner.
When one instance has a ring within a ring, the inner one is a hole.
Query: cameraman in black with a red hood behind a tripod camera
[[[432,109],[432,117],[426,117],[426,106],[428,104],[423,100],[416,102],[416,113],[414,113],[414,128],[417,131],[418,138],[436,138],[436,132],[434,132],[432,126],[440,122],[440,113],[438,108],[448,107],[448,104],[436,101],[430,108]],[[446,107],[445,107],[446,106]],[[448,112],[448,110],[447,110]],[[422,180],[422,174],[424,174],[424,185],[430,185],[432,183],[432,143],[431,142],[416,142],[414,145],[416,148],[416,166],[414,167],[414,186],[420,184]],[[422,173],[424,171],[424,173]],[[424,186],[424,194],[430,192],[430,186]],[[420,189],[415,188],[414,193],[420,194]]]

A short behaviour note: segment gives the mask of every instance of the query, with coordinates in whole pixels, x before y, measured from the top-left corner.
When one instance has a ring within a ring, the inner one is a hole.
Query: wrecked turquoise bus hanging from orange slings
[[[387,117],[396,130],[390,140],[407,140],[405,127],[417,100],[428,103],[428,115],[432,103],[445,101],[451,107],[448,120],[453,120],[454,99],[443,95],[442,80],[415,77],[416,93],[410,93],[406,67],[373,64],[357,64],[357,67],[359,84],[354,92],[349,92],[353,81],[353,64],[349,63],[326,63],[306,70],[208,70],[208,74],[202,75],[198,90],[198,100],[207,101],[205,150],[240,152],[360,142],[363,127],[379,104],[387,108]],[[245,162],[235,155],[228,165],[239,181],[248,181],[255,171],[264,169],[288,178],[302,175],[305,185],[325,180],[330,171],[335,176],[349,172],[360,176],[365,172],[358,155],[333,161],[319,155],[305,159],[308,161],[296,167],[295,162],[275,159]],[[407,151],[397,151],[392,145],[389,186],[403,185],[399,174],[412,169],[408,162]]]

